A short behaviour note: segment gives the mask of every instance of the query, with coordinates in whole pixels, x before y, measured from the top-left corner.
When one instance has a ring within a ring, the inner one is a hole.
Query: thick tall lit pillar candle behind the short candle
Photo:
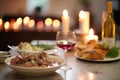
[[[82,34],[88,34],[90,24],[90,13],[88,11],[79,12],[79,29]]]

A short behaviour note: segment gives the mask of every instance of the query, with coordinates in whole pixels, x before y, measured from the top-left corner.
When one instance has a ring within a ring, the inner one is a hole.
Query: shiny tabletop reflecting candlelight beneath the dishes
[[[60,50],[58,49],[57,56],[63,53]],[[76,49],[67,52],[67,64],[72,67],[71,70],[57,69],[46,76],[20,75],[5,63],[0,63],[0,80],[120,80],[120,59],[105,62],[86,61],[77,58],[75,54]]]

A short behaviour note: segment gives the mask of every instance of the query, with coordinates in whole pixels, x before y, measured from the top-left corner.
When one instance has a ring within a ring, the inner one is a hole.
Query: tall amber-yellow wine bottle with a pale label
[[[112,48],[116,44],[116,25],[112,15],[112,1],[107,2],[107,17],[102,26],[102,42],[105,47]]]

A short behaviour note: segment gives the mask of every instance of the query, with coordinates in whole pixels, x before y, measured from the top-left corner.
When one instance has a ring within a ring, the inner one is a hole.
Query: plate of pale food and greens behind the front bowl
[[[20,42],[17,46],[8,46],[10,49],[19,53],[40,53],[55,54],[57,49],[55,45],[50,44],[31,44],[29,42]]]

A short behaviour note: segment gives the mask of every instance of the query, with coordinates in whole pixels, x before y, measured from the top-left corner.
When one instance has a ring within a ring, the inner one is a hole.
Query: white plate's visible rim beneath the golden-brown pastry
[[[79,57],[77,55],[77,53],[75,53],[75,56],[78,59],[85,60],[85,61],[92,61],[92,62],[111,62],[111,61],[120,60],[120,54],[116,58],[105,58],[104,60],[88,60],[88,59],[83,59],[82,57]]]

